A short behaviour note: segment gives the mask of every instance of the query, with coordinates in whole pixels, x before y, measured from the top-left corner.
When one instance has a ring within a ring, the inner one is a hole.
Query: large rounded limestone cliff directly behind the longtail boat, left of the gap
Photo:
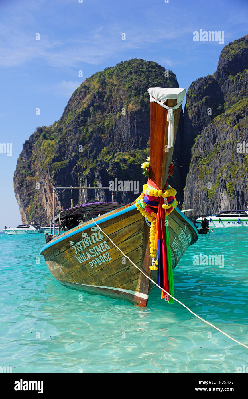
[[[46,223],[52,216],[53,188],[108,186],[110,180],[135,180],[149,154],[150,99],[148,87],[178,87],[176,76],[152,61],[131,59],[95,73],[72,94],[60,120],[42,126],[23,144],[14,174],[14,190],[23,223]],[[183,118],[174,158],[180,158]],[[174,183],[178,189],[180,168]],[[139,194],[113,192],[114,201],[128,203]],[[178,189],[182,202],[183,187]],[[87,201],[110,200],[109,190],[85,190]],[[56,194],[56,212],[70,207],[70,190]],[[73,205],[84,203],[82,190]]]

